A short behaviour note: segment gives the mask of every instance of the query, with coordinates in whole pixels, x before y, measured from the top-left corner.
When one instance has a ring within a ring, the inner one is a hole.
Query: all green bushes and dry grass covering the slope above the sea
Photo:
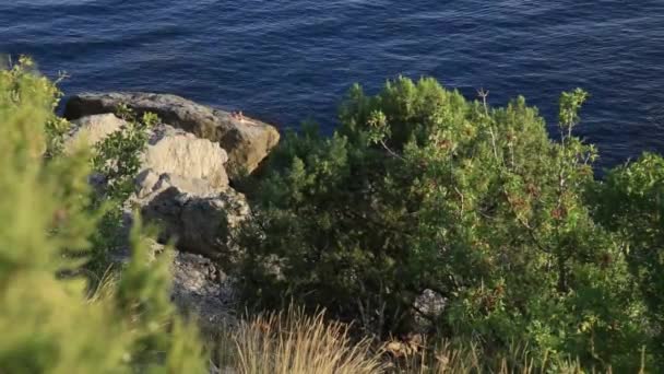
[[[582,90],[547,128],[523,97],[355,85],[332,136],[305,124],[234,182],[251,214],[215,260],[249,312],[214,337],[139,213],[112,265],[158,119],[64,147],[60,96],[28,59],[0,70],[0,373],[664,370],[664,159],[597,177]]]

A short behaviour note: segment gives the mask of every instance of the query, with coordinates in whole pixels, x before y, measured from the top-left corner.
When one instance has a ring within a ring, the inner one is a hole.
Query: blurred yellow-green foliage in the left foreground
[[[140,226],[108,292],[88,299],[87,279],[64,276],[93,250],[104,212],[91,198],[90,150],[49,152],[57,89],[29,67],[0,70],[0,372],[205,372],[168,303],[168,259],[149,264]]]

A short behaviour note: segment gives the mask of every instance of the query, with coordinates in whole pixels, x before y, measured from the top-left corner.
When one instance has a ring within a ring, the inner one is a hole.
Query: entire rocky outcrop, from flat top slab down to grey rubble
[[[67,143],[90,145],[120,130],[120,105],[137,115],[154,113],[159,124],[150,131],[135,190],[126,202],[127,226],[132,210],[162,229],[153,250],[174,239],[173,300],[193,314],[208,336],[234,324],[233,288],[217,268],[222,250],[233,250],[229,232],[248,214],[242,194],[229,182],[254,171],[280,139],[271,125],[206,107],[187,98],[154,93],[84,93],[71,97],[64,117],[74,130]],[[66,147],[68,145],[66,143]],[[127,248],[114,254],[127,259]]]

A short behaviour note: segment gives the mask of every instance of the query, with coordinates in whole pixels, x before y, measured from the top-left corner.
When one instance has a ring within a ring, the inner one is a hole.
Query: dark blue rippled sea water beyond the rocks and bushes
[[[664,153],[664,0],[0,0],[0,52],[62,89],[145,90],[328,130],[353,82],[432,75],[493,104],[592,94],[603,164]]]

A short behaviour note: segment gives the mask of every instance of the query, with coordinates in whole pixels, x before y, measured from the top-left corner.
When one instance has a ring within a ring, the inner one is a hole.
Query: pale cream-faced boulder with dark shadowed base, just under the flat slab
[[[78,141],[94,144],[126,122],[107,114],[83,117],[74,125],[66,147]],[[128,215],[132,208],[141,209],[147,222],[162,229],[161,242],[175,239],[179,250],[210,258],[232,250],[230,231],[249,214],[249,207],[228,187],[227,160],[218,143],[156,126],[142,155],[135,194],[126,203]]]

